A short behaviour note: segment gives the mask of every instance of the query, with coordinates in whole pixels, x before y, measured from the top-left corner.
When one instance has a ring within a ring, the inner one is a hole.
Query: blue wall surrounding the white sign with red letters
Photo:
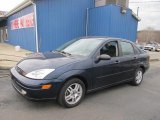
[[[8,40],[9,40],[8,43],[13,45],[20,45],[22,48],[31,51],[36,51],[34,27],[11,30],[11,23],[10,23],[12,20],[32,12],[34,12],[33,6],[29,6],[21,10],[20,12],[13,14],[8,18],[7,20]]]

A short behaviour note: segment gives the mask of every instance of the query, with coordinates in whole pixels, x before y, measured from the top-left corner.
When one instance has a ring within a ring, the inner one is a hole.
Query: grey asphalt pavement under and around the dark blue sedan
[[[0,120],[160,120],[160,62],[151,63],[139,87],[97,91],[72,109],[24,99],[12,88],[8,71],[0,72]]]

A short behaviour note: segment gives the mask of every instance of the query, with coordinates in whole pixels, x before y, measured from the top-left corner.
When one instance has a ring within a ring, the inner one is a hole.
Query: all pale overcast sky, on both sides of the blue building
[[[0,11],[10,11],[22,1],[24,0],[0,0]],[[130,0],[129,8],[135,13],[138,7],[141,18],[138,30],[148,27],[160,30],[160,0]]]

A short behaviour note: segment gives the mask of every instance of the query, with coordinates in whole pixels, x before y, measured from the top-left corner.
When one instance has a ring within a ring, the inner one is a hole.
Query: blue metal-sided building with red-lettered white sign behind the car
[[[83,36],[136,41],[138,17],[116,4],[95,0],[26,0],[6,15],[8,43],[45,52]]]

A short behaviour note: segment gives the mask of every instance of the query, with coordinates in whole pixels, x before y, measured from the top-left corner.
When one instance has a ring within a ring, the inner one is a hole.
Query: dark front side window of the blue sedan
[[[107,54],[111,57],[118,56],[118,43],[116,41],[111,41],[105,44],[100,50],[100,55]]]

